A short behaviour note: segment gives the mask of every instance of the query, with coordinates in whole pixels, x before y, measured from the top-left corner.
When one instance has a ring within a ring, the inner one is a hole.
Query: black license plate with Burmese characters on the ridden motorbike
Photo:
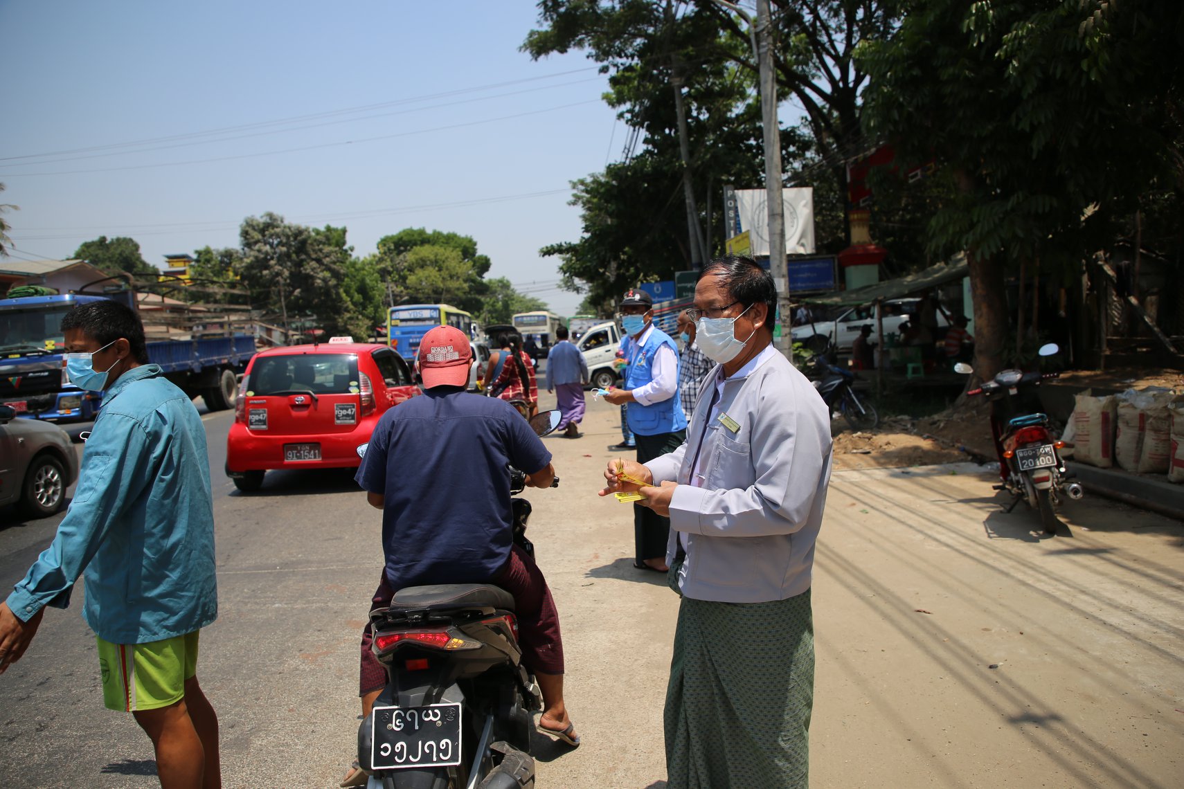
[[[461,705],[374,707],[371,764],[375,770],[461,763]]]

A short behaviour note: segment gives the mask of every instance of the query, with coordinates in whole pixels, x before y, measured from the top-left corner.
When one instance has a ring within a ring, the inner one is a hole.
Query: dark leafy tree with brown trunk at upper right
[[[1004,276],[1068,271],[1113,238],[1139,195],[1180,188],[1178,5],[1153,0],[914,0],[869,44],[864,119],[906,163],[937,159],[955,188],[928,222],[938,254],[965,250],[976,370],[1008,332]],[[1175,130],[1175,134],[1173,134]]]

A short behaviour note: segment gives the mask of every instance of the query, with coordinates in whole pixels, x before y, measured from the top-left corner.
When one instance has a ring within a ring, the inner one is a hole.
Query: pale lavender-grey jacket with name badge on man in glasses
[[[675,562],[681,535],[684,596],[731,603],[793,597],[810,588],[826,506],[830,410],[779,353],[725,381],[713,409],[715,382],[714,373],[703,382],[686,444],[645,464],[655,483],[678,484],[667,562]],[[690,484],[696,457],[699,487]]]

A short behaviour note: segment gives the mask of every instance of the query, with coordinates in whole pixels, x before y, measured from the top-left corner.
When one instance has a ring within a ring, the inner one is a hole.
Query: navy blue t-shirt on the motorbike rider
[[[487,583],[513,542],[507,465],[535,473],[551,452],[504,400],[426,389],[379,420],[354,479],[385,497],[392,588]]]

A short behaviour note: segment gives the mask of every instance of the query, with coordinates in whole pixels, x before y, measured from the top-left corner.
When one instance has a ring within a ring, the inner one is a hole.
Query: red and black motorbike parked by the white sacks
[[[1049,343],[1040,349],[1041,356],[1051,356],[1060,348]],[[973,368],[959,362],[957,373],[970,374]],[[1044,532],[1055,535],[1063,529],[1056,516],[1056,506],[1063,497],[1080,499],[1085,491],[1073,474],[1064,468],[1061,450],[1064,442],[1053,435],[1047,414],[1025,407],[1024,401],[1035,394],[1041,381],[1058,377],[1057,373],[1035,370],[1002,370],[992,381],[969,390],[967,395],[982,395],[991,403],[991,434],[999,455],[1002,484],[995,490],[1012,494],[1006,512],[1011,512],[1021,500],[1037,510]]]

